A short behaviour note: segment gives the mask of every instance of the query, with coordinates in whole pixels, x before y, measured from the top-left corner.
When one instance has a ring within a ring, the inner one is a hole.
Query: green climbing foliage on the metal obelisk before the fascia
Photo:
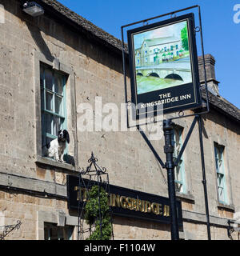
[[[99,221],[99,197],[98,186],[92,186],[89,191],[85,206],[86,223],[90,226],[95,223],[95,230],[87,240],[110,240],[112,225],[110,222],[110,209],[107,204],[108,197],[106,191],[100,186],[100,208],[102,216],[102,236]]]

